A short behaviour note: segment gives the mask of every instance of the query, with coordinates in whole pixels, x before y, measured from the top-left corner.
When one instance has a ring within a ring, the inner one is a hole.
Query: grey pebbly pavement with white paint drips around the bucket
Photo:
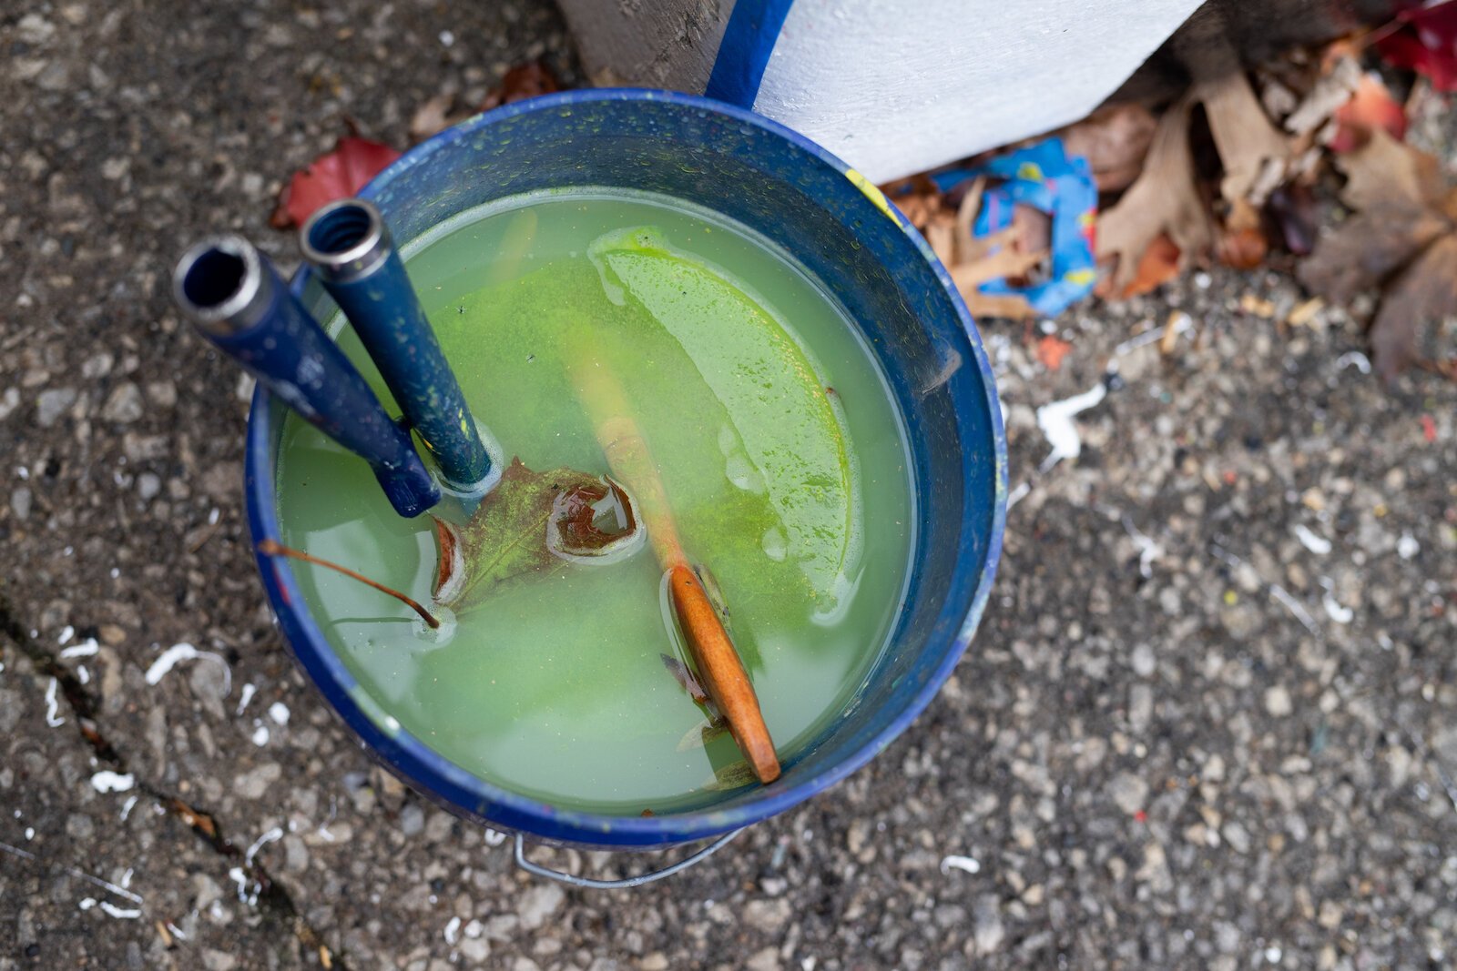
[[[291,266],[272,198],[344,118],[404,143],[527,57],[570,79],[549,7],[455,6],[0,12],[0,970],[1457,961],[1457,386],[1281,323],[1281,272],[1069,313],[1055,373],[986,329],[1018,501],[981,635],[710,863],[564,891],[382,774],[271,626],[246,405],[168,274],[219,229]],[[1100,386],[1040,472],[1036,409]]]

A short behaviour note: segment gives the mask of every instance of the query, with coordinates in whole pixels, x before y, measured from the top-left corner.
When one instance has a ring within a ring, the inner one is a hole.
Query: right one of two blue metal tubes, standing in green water
[[[440,466],[446,486],[484,492],[491,457],[379,210],[363,199],[329,202],[303,224],[299,242]]]

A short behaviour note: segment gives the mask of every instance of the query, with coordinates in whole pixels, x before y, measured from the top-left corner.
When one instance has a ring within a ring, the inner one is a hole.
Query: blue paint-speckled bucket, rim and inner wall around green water
[[[769,786],[710,809],[610,817],[491,785],[399,726],[350,674],[283,558],[258,558],[299,664],[367,748],[457,814],[596,849],[670,846],[728,833],[809,799],[864,766],[930,703],[982,616],[1001,553],[1007,445],[981,338],[925,240],[842,162],[765,118],[702,98],[583,90],[507,105],[440,132],[361,195],[404,246],[484,202],[567,186],[659,192],[705,205],[794,253],[849,312],[896,397],[914,460],[918,528],[908,598],[889,649],[823,737],[790,753]],[[332,303],[300,271],[323,320]],[[278,540],[274,491],[283,406],[258,389],[248,424],[248,518]]]

